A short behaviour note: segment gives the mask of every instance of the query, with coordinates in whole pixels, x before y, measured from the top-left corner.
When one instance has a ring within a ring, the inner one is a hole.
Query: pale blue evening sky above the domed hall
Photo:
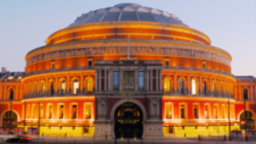
[[[24,71],[26,54],[82,13],[119,3],[158,8],[180,17],[232,56],[232,73],[256,76],[255,0],[0,0],[0,67]]]

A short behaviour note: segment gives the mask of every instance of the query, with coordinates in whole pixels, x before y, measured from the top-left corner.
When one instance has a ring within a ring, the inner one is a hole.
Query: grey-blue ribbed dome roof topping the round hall
[[[170,14],[167,11],[131,3],[118,4],[114,7],[89,11],[87,14],[82,14],[81,17],[77,17],[69,26],[118,21],[146,21],[187,26],[180,18],[177,18],[174,14]]]

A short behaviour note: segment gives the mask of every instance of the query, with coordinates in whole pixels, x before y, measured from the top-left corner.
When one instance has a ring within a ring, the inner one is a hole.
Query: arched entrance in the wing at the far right
[[[246,114],[246,117],[245,117]],[[245,129],[245,124],[247,129],[254,129],[254,114],[250,111],[244,111],[240,114],[240,122],[241,122],[241,129]]]

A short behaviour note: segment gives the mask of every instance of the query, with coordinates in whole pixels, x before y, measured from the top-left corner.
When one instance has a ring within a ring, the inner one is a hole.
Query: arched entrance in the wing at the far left
[[[14,122],[17,122],[17,115],[15,114],[15,112],[13,111],[7,111],[4,115],[3,115],[3,127],[8,127],[9,131],[13,130],[15,127],[17,127],[16,125],[14,125]]]

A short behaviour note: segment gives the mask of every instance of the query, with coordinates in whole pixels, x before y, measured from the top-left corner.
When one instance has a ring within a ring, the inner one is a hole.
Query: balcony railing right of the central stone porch
[[[182,71],[198,71],[198,72],[211,72],[218,74],[225,74],[235,78],[235,75],[229,72],[217,71],[214,69],[196,68],[196,67],[184,67],[184,66],[163,66],[163,69],[167,70],[182,70]]]

